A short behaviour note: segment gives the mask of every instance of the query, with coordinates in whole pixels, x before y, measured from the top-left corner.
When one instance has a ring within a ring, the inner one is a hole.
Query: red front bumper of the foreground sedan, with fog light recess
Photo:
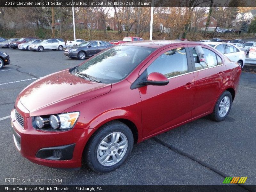
[[[20,109],[18,113],[24,115]],[[85,129],[47,132],[32,126],[32,117],[24,118],[24,127],[11,112],[13,139],[21,155],[28,160],[49,167],[79,168],[84,150]]]

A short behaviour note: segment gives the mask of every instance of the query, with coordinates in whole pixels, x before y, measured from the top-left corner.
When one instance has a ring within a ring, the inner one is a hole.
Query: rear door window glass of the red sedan
[[[209,67],[214,67],[217,65],[221,65],[222,64],[222,60],[220,58],[220,56],[218,56],[215,52],[203,48],[204,50],[204,59],[205,61],[202,61],[200,63],[197,63],[197,54],[196,54],[196,50],[195,47],[192,47],[192,53],[194,56],[194,61],[195,61],[195,70],[200,70],[200,69],[204,69],[204,68],[209,68]]]

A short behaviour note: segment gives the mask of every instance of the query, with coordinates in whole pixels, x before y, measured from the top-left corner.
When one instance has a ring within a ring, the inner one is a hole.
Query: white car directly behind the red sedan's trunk
[[[205,42],[205,44],[212,46],[217,49],[219,52],[223,53],[231,61],[237,62],[241,68],[244,67],[245,54],[244,51],[241,51],[235,45],[229,43],[220,43],[220,42]]]

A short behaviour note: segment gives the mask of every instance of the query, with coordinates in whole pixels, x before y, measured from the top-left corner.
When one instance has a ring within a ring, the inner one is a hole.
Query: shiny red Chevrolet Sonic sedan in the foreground
[[[26,87],[11,113],[13,139],[30,161],[97,172],[124,164],[134,143],[202,116],[223,121],[241,68],[186,41],[118,45]]]

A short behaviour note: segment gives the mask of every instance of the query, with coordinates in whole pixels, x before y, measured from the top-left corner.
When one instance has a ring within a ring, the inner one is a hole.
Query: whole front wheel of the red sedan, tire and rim
[[[103,125],[85,149],[87,165],[96,172],[110,172],[124,164],[133,147],[130,128],[119,121]]]

